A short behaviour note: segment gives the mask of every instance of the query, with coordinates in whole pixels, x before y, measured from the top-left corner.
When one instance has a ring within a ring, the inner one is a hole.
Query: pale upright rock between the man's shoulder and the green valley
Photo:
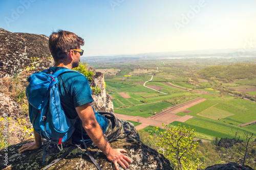
[[[92,96],[94,99],[94,102],[92,104],[96,111],[114,113],[113,102],[109,94],[106,93],[104,82],[105,81],[103,74],[101,72],[96,72],[96,74],[92,78],[92,81],[90,82],[90,86],[98,86],[101,89],[101,92],[99,92],[99,94],[95,94],[94,92],[92,92]]]

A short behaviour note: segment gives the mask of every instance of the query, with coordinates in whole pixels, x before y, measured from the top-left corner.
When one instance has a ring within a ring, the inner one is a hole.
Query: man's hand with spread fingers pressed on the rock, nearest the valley
[[[124,169],[129,167],[129,163],[132,161],[121,152],[126,152],[124,149],[113,149],[108,156],[106,156],[111,162],[114,163],[116,170],[118,170],[117,163],[119,163]],[[129,162],[129,163],[128,163]]]

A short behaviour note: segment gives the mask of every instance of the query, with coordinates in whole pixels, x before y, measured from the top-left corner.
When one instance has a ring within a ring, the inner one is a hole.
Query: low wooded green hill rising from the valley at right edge
[[[216,77],[233,81],[235,79],[255,78],[256,64],[236,63],[230,65],[208,66],[197,71],[200,78]]]

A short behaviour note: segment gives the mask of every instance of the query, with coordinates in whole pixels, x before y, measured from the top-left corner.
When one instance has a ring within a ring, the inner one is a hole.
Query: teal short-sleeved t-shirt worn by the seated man
[[[58,69],[65,67],[50,67],[48,71],[55,72]],[[87,103],[93,102],[92,90],[89,82],[85,76],[77,72],[67,72],[58,77],[59,80],[59,93],[60,103],[65,111],[65,114],[74,119],[77,117],[76,107],[82,106]],[[103,133],[105,133],[106,127],[108,126],[108,120],[95,112],[95,117],[99,123]],[[86,143],[92,143],[92,140],[88,136],[87,132],[82,128],[83,139]],[[81,134],[81,120],[78,119],[75,124],[75,131],[72,135],[72,141],[74,143],[82,142]]]

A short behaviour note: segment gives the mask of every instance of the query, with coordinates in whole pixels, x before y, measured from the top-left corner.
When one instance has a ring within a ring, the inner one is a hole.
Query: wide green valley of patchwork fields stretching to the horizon
[[[255,57],[83,60],[103,72],[115,113],[136,122],[137,130],[181,124],[195,128],[204,141],[244,131],[255,137]]]

